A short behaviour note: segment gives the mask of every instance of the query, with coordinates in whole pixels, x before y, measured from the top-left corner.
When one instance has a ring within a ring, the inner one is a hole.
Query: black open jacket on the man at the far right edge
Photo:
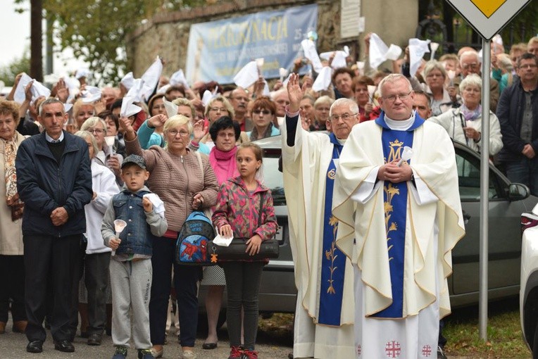
[[[534,152],[538,153],[538,89],[531,92],[532,103],[532,141]],[[497,118],[501,123],[503,149],[499,152],[500,162],[509,162],[523,158],[523,147],[527,142],[521,138],[521,121],[525,111],[525,90],[519,77],[514,78],[511,86],[506,87],[497,106]]]

